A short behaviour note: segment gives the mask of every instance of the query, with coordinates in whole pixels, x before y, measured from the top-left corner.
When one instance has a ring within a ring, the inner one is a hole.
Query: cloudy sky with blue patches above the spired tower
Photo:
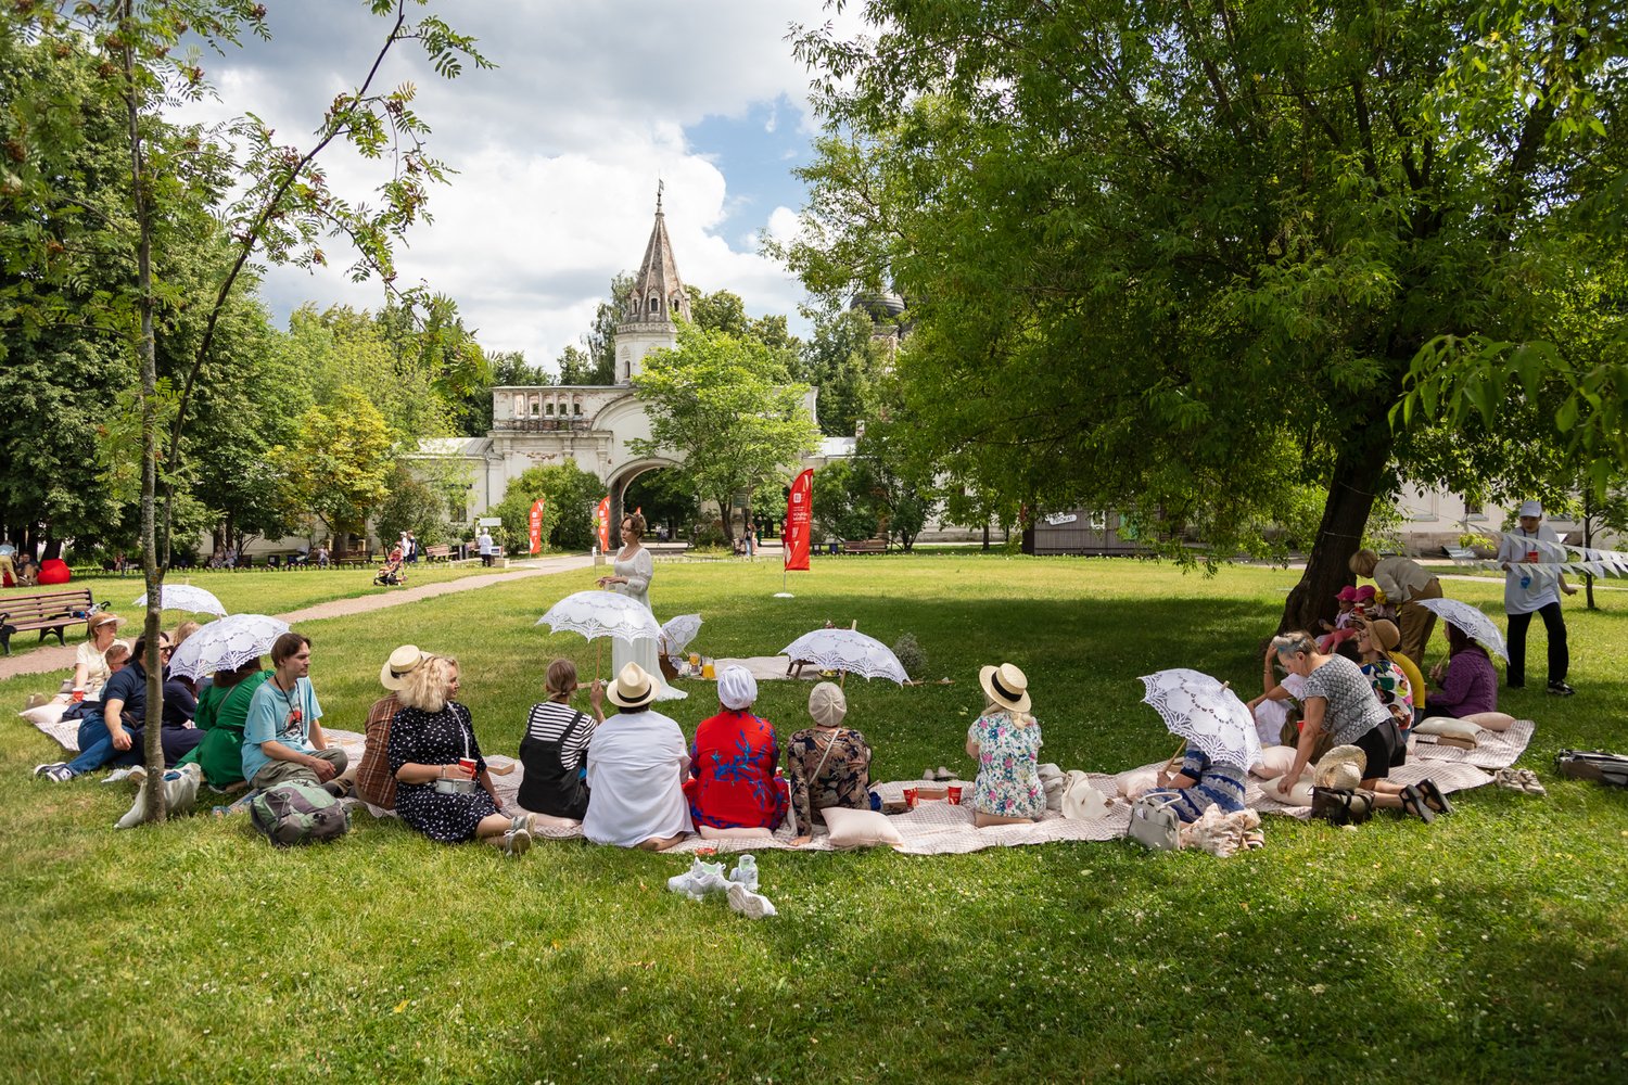
[[[220,102],[192,112],[256,112],[278,142],[303,146],[387,24],[361,0],[267,7],[272,41],[205,60]],[[400,281],[451,294],[487,350],[552,363],[588,330],[610,277],[638,267],[659,179],[685,283],[796,320],[803,290],[757,254],[759,234],[786,233],[803,205],[790,169],[809,161],[814,135],[807,72],[786,34],[791,23],[848,16],[822,0],[440,0],[430,10],[477,36],[498,68],[446,81],[397,46],[381,75],[386,86],[417,85],[430,151],[459,171],[431,192],[435,223],[399,254]],[[326,161],[353,200],[386,177],[378,163]],[[381,288],[352,285],[348,262],[334,252],[334,268],[316,275],[274,268],[264,294],[277,319],[306,301],[376,307]]]

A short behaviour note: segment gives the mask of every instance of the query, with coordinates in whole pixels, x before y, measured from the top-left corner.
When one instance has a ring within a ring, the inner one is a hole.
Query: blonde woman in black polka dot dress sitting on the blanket
[[[457,660],[431,656],[397,693],[389,761],[396,813],[430,839],[482,839],[521,856],[531,848],[531,815],[505,817],[480,756],[474,721],[457,696]]]

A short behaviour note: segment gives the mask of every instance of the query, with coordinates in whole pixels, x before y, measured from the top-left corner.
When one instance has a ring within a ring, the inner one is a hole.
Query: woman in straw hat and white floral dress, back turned
[[[1019,825],[1045,813],[1040,784],[1040,722],[1029,714],[1029,678],[1011,664],[978,672],[985,708],[967,729],[974,825]]]

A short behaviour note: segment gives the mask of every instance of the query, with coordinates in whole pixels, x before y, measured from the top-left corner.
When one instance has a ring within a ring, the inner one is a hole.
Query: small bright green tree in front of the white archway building
[[[640,455],[677,455],[695,493],[731,506],[737,493],[778,475],[817,447],[819,431],[785,363],[755,338],[679,327],[679,345],[645,359],[633,394],[650,412],[651,439]],[[724,535],[733,537],[728,517]]]

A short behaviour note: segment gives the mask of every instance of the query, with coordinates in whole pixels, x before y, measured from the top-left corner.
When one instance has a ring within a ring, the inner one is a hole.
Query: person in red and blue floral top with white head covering
[[[718,673],[718,714],[695,727],[684,795],[702,836],[768,830],[786,820],[786,791],[775,778],[780,739],[775,726],[752,712],[757,678],[739,664]]]

